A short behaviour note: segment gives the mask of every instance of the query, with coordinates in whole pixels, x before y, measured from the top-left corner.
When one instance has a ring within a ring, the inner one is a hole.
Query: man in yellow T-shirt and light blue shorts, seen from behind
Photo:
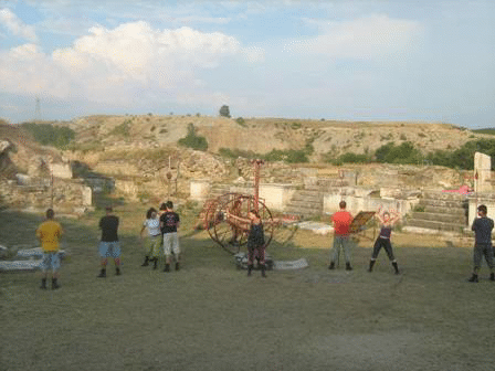
[[[46,221],[40,224],[36,230],[36,237],[41,242],[41,248],[43,250],[43,261],[41,263],[42,278],[40,288],[46,289],[48,271],[52,269],[52,289],[60,287],[56,282],[59,278],[60,269],[60,237],[63,234],[62,226],[59,222],[54,221],[55,212],[53,209],[46,210]]]

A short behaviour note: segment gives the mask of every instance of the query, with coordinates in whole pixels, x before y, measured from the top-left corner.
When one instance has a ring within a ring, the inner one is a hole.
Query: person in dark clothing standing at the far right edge
[[[493,220],[486,216],[488,210],[485,205],[480,205],[477,208],[477,214],[480,218],[476,218],[473,222],[473,226],[471,227],[474,231],[474,269],[473,276],[468,279],[468,282],[477,283],[477,274],[480,273],[480,268],[482,266],[482,258],[485,256],[486,263],[489,268],[489,280],[495,280],[495,274],[493,272],[493,246],[492,246],[492,230],[493,230]]]

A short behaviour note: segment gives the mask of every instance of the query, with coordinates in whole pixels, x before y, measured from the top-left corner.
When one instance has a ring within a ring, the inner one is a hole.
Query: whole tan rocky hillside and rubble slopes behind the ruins
[[[354,183],[364,187],[457,187],[465,181],[466,174],[442,167],[371,163],[338,168],[322,163],[322,159],[328,152],[334,156],[373,152],[390,141],[397,145],[411,141],[426,153],[435,149],[455,149],[468,140],[487,137],[446,124],[206,116],[89,116],[51,124],[70,127],[76,132],[70,149],[61,152],[39,146],[19,128],[7,123],[0,125],[0,139],[4,147],[0,171],[4,177],[21,172],[46,179],[46,174],[36,173],[42,169],[40,165],[71,162],[75,176],[86,177],[84,182],[87,184],[92,180],[87,176],[101,176],[93,179],[96,182],[109,177],[115,181],[117,195],[154,202],[170,194],[187,198],[191,179],[215,182],[232,182],[238,178],[252,180],[250,161],[221,157],[218,152],[222,148],[254,153],[267,153],[273,149],[299,150],[308,145],[314,148],[310,163],[265,163],[262,167],[262,181],[265,182],[302,187],[305,177],[335,178],[345,170],[351,174]],[[206,138],[207,151],[177,145],[191,127],[197,136]]]

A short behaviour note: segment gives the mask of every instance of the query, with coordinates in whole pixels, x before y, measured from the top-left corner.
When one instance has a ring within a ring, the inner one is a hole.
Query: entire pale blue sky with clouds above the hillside
[[[492,0],[0,0],[0,118],[495,127],[494,19]]]

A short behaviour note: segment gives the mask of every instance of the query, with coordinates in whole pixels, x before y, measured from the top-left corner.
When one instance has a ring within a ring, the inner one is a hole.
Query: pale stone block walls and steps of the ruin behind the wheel
[[[415,232],[464,233],[476,214],[472,205],[476,199],[473,192],[459,190],[471,190],[473,186],[492,189],[489,157],[480,153],[478,158],[475,172],[483,172],[483,177],[478,177],[477,184],[468,171],[443,167],[301,167],[298,176],[293,178],[299,180],[296,183],[270,183],[262,177],[260,198],[274,212],[298,214],[304,219],[320,216],[325,220],[338,210],[339,201],[345,200],[352,214],[376,211],[380,206],[393,209],[403,216],[407,229]],[[236,182],[223,184],[206,178],[190,182],[190,197],[199,202],[227,192],[252,194],[252,179],[241,177]],[[495,197],[484,193],[484,198],[485,203],[493,203],[495,211]]]

